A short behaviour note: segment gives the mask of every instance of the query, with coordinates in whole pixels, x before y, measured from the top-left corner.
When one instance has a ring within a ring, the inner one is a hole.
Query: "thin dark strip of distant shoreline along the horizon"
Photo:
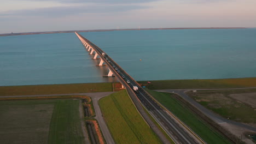
[[[161,30],[161,29],[241,29],[246,27],[199,27],[199,28],[126,28],[126,29],[94,29],[94,30],[78,30],[78,31],[50,31],[50,32],[25,32],[25,33],[4,33],[2,36],[11,35],[31,35],[31,34],[51,34],[51,33],[74,33],[74,32],[107,32],[107,31],[132,31],[132,30]]]

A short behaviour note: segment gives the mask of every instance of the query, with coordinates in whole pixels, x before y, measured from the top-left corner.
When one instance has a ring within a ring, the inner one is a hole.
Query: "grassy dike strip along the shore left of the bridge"
[[[0,86],[0,96],[112,91],[112,83],[73,83],[59,85]]]

